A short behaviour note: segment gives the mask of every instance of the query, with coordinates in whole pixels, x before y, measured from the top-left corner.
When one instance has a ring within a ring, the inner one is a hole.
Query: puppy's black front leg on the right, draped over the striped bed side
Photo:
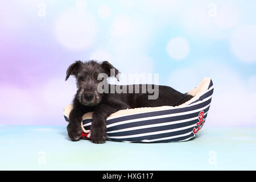
[[[107,138],[106,118],[108,118],[110,114],[126,108],[126,105],[109,106],[101,104],[93,111],[93,121],[90,127],[90,136],[93,143],[105,143]]]

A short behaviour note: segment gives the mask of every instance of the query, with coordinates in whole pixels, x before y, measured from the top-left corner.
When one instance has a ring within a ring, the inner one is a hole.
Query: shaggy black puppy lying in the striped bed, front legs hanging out
[[[100,64],[93,60],[85,63],[76,61],[67,70],[65,80],[68,80],[70,75],[74,75],[77,80],[77,93],[73,100],[74,107],[69,115],[67,126],[68,136],[72,141],[80,139],[82,115],[89,111],[93,111],[90,128],[92,142],[105,143],[107,138],[106,118],[110,114],[135,107],[176,106],[192,98],[192,96],[177,92],[169,86],[160,85],[123,85],[120,88],[126,92],[111,93],[110,88],[115,85],[106,84],[106,78],[99,79],[100,73],[105,73],[107,77],[117,77],[119,71],[108,61],[103,61]],[[99,87],[102,82],[105,82],[104,86]],[[107,92],[102,93],[99,88],[107,90]],[[158,97],[156,99],[148,99],[152,96],[152,90],[149,92],[148,88],[157,89]]]

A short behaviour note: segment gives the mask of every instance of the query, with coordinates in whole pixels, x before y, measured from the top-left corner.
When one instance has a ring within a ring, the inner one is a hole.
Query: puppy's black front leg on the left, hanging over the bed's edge
[[[81,133],[82,133],[81,121],[82,121],[82,112],[75,108],[72,109],[71,113],[69,114],[69,123],[67,126],[68,137],[72,141],[78,141],[81,138]]]

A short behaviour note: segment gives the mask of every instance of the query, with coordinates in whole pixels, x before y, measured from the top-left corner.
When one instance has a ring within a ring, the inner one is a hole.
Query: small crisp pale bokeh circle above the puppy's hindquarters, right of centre
[[[172,38],[167,43],[167,53],[172,59],[184,59],[188,55],[189,50],[189,44],[184,38]]]

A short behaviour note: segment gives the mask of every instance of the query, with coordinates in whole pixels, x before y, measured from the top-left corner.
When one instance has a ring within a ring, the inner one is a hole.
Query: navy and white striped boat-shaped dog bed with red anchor
[[[204,78],[190,90],[193,98],[179,106],[142,107],[119,110],[106,119],[108,140],[115,142],[183,142],[196,137],[203,127],[212,101],[213,82]],[[64,109],[68,120],[72,104]],[[82,137],[90,139],[92,112],[82,116]]]

